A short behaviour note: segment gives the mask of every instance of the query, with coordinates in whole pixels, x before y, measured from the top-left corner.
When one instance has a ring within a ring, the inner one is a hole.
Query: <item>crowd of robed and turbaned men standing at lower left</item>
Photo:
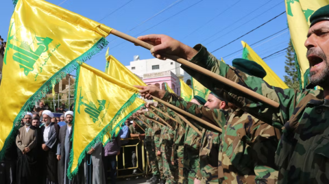
[[[116,157],[121,153],[121,145],[129,142],[121,139],[144,136],[135,123],[126,120],[117,137],[112,137],[106,145],[99,142],[88,151],[91,162],[87,164],[85,158],[77,175],[69,179],[66,172],[72,149],[73,111],[62,106],[58,110],[64,114],[55,117],[43,102],[34,110],[25,113],[16,132],[16,142],[5,150],[5,157],[0,161],[1,184],[115,183]],[[126,155],[127,162],[131,160],[126,165],[136,168],[136,148],[128,148]],[[138,170],[134,169],[132,174],[138,174]]]

